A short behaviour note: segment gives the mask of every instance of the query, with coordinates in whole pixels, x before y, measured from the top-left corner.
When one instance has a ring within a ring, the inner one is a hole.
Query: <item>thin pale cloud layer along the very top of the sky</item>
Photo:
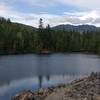
[[[31,6],[48,7],[58,4],[72,5],[83,9],[100,10],[100,0],[0,0],[7,4],[15,4],[18,2],[27,3]]]

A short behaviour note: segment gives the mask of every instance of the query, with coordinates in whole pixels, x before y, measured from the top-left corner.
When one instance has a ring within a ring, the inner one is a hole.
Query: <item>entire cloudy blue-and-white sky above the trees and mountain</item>
[[[34,27],[91,24],[100,26],[100,0],[0,0],[0,16]]]

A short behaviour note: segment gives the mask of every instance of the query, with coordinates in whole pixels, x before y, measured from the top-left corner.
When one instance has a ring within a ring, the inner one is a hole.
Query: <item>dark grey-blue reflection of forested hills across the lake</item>
[[[0,57],[0,84],[12,80],[51,75],[76,75],[100,71],[96,55],[55,54]]]

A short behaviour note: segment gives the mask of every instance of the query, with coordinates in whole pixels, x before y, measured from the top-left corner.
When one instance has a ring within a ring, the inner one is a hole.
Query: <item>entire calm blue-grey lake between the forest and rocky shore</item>
[[[100,58],[86,54],[0,56],[0,100],[22,90],[70,82],[100,71]]]

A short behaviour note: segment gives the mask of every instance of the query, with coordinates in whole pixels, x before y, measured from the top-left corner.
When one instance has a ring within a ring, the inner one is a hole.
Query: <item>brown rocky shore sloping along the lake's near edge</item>
[[[100,100],[100,73],[37,92],[23,91],[11,100]]]

